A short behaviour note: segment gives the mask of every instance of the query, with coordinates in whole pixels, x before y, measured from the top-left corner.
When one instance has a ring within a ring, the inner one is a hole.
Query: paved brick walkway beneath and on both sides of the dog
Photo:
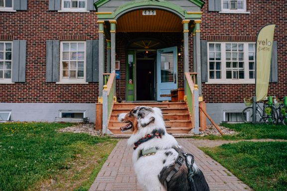
[[[192,145],[189,139],[178,138],[177,141],[194,155],[211,191],[251,191],[227,169]],[[143,191],[137,184],[132,153],[133,148],[127,147],[127,139],[120,139],[89,191]]]

